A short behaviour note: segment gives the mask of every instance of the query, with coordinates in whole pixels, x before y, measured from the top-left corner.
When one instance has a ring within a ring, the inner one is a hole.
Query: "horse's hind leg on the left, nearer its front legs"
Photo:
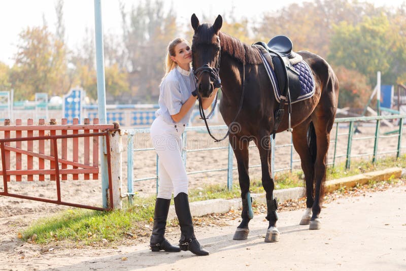
[[[296,126],[292,132],[293,146],[300,156],[306,186],[306,212],[300,220],[300,225],[309,225],[314,203],[314,158],[307,142],[308,127],[309,121],[304,121]]]

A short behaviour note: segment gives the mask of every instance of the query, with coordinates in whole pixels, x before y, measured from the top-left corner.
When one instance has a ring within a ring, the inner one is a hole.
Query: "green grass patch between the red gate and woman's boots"
[[[152,197],[143,199],[143,204],[136,201],[129,208],[112,212],[66,210],[53,217],[36,221],[23,232],[22,237],[27,240],[33,234],[37,234],[36,243],[38,244],[69,240],[77,244],[89,245],[93,242],[101,242],[103,239],[117,243],[127,237],[128,232],[134,232],[134,226],[139,226],[137,222],[149,223],[153,212]]]

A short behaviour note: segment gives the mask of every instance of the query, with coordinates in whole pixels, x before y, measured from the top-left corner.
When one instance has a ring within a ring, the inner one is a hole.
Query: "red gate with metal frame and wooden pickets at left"
[[[67,180],[69,175],[72,175],[73,180],[79,180],[79,174],[83,175],[84,180],[89,180],[90,176],[93,180],[98,180],[99,137],[105,137],[106,147],[107,150],[109,150],[109,131],[116,130],[115,128],[117,127],[115,127],[114,124],[98,124],[98,119],[94,119],[93,124],[89,124],[89,119],[85,119],[84,125],[78,124],[78,119],[74,119],[74,125],[66,125],[66,123],[66,119],[62,119],[62,125],[56,125],[55,119],[51,119],[50,125],[45,125],[45,121],[41,119],[39,125],[32,125],[32,119],[28,119],[27,125],[21,125],[21,120],[16,120],[16,125],[10,126],[10,121],[6,120],[5,126],[0,126],[0,131],[4,131],[4,139],[0,140],[4,191],[0,192],[0,195],[99,211],[111,210],[111,207],[113,207],[113,191],[110,166],[111,156],[109,151],[107,152],[109,208],[105,209],[62,201],[60,181]],[[26,137],[22,137],[22,131],[26,131]],[[38,136],[33,136],[35,131],[38,133]],[[45,134],[45,131],[49,131],[49,134]],[[83,132],[80,133],[80,131]],[[15,134],[15,138],[10,137],[11,132]],[[84,138],[84,148],[79,148],[79,138]],[[93,139],[92,144],[90,144],[90,138]],[[72,139],[73,142],[72,160],[67,159],[68,139]],[[33,151],[34,141],[38,141],[38,152]],[[49,143],[47,141],[49,141]],[[15,142],[15,147],[11,146],[12,142]],[[26,142],[26,149],[22,148],[22,142]],[[60,142],[60,148],[58,148],[58,142]],[[49,155],[45,154],[47,143],[49,144]],[[58,150],[60,150],[61,157],[58,157]],[[90,164],[90,152],[92,153],[92,164]],[[10,161],[12,157],[11,153],[15,153],[15,161]],[[79,162],[79,154],[81,154],[80,157],[83,157],[83,163]],[[26,156],[26,161],[23,161],[22,155]],[[38,158],[38,168],[33,168],[34,157],[36,157],[36,159]],[[50,161],[50,168],[45,168],[45,161],[47,160]],[[23,162],[24,168],[22,168]],[[10,168],[11,164],[15,167],[14,169]],[[59,164],[61,165],[60,167]],[[30,182],[33,181],[36,176],[38,176],[38,181],[45,181],[47,175],[50,181],[56,181],[56,200],[8,192],[8,182],[11,181],[10,177],[14,176],[16,182],[21,182],[21,177],[26,176],[27,182]]]

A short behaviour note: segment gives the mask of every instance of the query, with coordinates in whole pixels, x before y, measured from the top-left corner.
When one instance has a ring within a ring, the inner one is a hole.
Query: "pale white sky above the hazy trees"
[[[212,16],[213,22],[218,14],[228,14],[231,7],[237,18],[247,17],[249,20],[260,19],[261,12],[275,12],[292,3],[302,3],[301,0],[269,0],[269,5],[263,5],[266,0],[166,0],[164,9],[168,10],[171,3],[178,15],[177,21],[181,25],[190,23],[190,16],[195,13],[201,18],[204,14]],[[406,0],[367,0],[375,6],[400,6]],[[131,5],[138,5],[143,1],[125,0],[126,9]],[[250,3],[247,6],[245,3]],[[266,3],[266,2],[265,2]],[[45,18],[51,31],[54,31],[56,15],[54,0],[0,0],[0,61],[13,64],[16,53],[18,33],[27,26],[40,26]],[[66,28],[67,44],[76,48],[85,36],[85,28],[94,29],[94,1],[93,0],[65,0],[63,17]],[[104,32],[119,33],[121,30],[121,16],[118,0],[101,0],[101,11]],[[211,22],[212,23],[212,22]]]

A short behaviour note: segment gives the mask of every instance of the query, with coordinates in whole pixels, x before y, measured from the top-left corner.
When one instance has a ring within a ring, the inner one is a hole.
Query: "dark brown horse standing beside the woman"
[[[220,112],[229,127],[237,126],[230,132],[229,142],[238,164],[243,212],[242,222],[236,229],[234,239],[247,239],[248,223],[252,218],[248,212],[250,199],[247,199],[250,189],[248,145],[250,141],[254,141],[261,158],[262,185],[266,192],[268,209],[266,218],[269,225],[265,242],[277,242],[278,215],[277,202],[273,196],[275,184],[270,173],[270,134],[274,127],[274,112],[278,109],[279,103],[273,94],[272,84],[266,75],[258,50],[220,32],[222,26],[220,15],[214,24],[210,25],[200,24],[193,14],[191,23],[194,29],[193,65],[195,68],[204,65],[211,68],[219,67],[222,83]],[[310,224],[310,229],[319,229],[319,214],[326,178],[326,157],[337,109],[339,83],[330,65],[323,58],[307,51],[300,51],[298,54],[310,66],[315,79],[314,95],[292,104],[291,110],[293,146],[300,156],[307,196],[307,209],[300,224]],[[211,80],[209,73],[202,73],[199,76],[197,86],[202,97],[210,96],[213,91]],[[243,92],[241,112],[238,114]],[[285,113],[277,132],[287,128],[288,114]]]

